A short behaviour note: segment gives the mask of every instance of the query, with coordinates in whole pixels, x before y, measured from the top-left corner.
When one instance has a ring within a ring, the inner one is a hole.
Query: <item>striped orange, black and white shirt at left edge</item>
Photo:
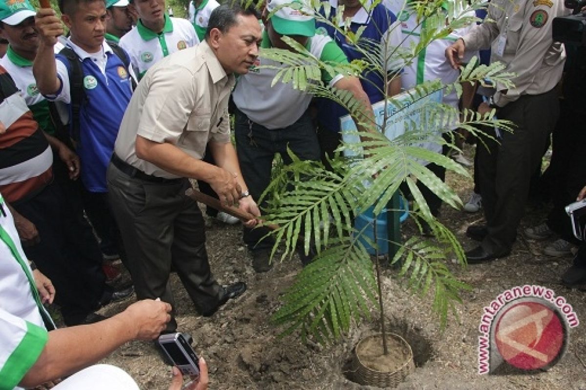
[[[53,179],[53,152],[18,88],[0,66],[0,192],[9,203],[38,194]]]

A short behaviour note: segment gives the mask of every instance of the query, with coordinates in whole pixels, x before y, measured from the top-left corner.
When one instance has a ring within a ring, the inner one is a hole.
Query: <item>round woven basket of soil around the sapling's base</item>
[[[407,375],[411,374],[415,370],[415,363],[413,361],[413,350],[411,350],[411,346],[403,337],[399,336],[395,333],[387,333],[387,337],[392,337],[393,339],[399,341],[400,344],[407,350],[407,358],[406,361],[399,367],[397,370],[393,372],[381,372],[377,370],[373,370],[372,368],[366,367],[361,361],[360,357],[356,353],[356,350],[360,346],[360,343],[363,343],[366,340],[372,339],[373,337],[379,337],[382,343],[382,334],[377,333],[373,334],[372,336],[366,337],[366,339],[360,340],[356,347],[352,351],[352,371],[353,371],[353,380],[361,385],[369,385],[369,386],[378,386],[378,387],[397,387],[398,384],[404,381]]]

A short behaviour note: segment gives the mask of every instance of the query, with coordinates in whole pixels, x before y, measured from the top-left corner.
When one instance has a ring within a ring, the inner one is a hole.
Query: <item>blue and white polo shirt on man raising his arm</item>
[[[106,42],[100,53],[86,53],[68,42],[81,58],[86,102],[80,106],[80,134],[76,151],[81,161],[81,180],[88,191],[107,192],[106,170],[114,142],[132,95],[131,79],[122,60]],[[47,96],[67,104],[71,118],[69,61],[57,54],[57,77],[62,81],[56,95]],[[71,125],[71,120],[69,121]]]

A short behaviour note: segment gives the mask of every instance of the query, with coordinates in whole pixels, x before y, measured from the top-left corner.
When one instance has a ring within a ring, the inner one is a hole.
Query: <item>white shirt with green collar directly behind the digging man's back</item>
[[[198,43],[191,23],[185,19],[171,18],[166,13],[161,33],[149,30],[139,19],[137,26],[120,39],[120,47],[130,56],[132,69],[139,80],[161,58]]]

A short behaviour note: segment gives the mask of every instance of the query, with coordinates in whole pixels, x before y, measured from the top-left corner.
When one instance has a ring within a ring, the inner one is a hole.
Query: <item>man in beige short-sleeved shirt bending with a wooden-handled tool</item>
[[[204,180],[222,202],[260,215],[230,143],[227,113],[233,73],[247,73],[260,39],[254,11],[217,8],[205,42],[155,64],[122,119],[107,179],[127,266],[137,298],[161,298],[171,303],[173,314],[171,265],[203,316],[246,290],[243,282],[222,287],[215,281],[202,214],[185,190],[188,178]],[[207,144],[217,166],[202,161]],[[176,326],[173,317],[166,332]]]

